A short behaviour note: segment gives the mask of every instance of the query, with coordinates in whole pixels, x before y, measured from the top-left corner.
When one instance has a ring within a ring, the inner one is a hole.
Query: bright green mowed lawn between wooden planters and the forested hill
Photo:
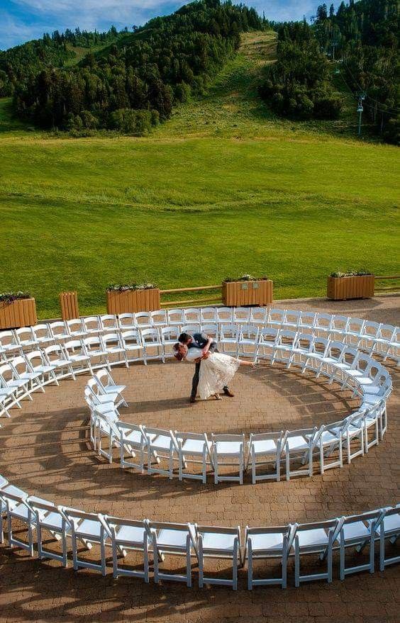
[[[267,274],[276,298],[320,296],[335,269],[399,271],[399,151],[328,136],[0,138],[0,291],[40,317],[76,289],[163,288]]]

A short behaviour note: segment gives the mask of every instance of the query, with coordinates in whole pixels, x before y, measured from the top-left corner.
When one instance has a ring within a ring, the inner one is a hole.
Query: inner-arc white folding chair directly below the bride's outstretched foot
[[[246,469],[251,464],[252,484],[257,481],[281,479],[281,453],[286,442],[287,434],[279,432],[250,433],[248,441],[248,462]],[[267,466],[272,465],[272,471]],[[262,472],[257,473],[257,467],[262,467]]]

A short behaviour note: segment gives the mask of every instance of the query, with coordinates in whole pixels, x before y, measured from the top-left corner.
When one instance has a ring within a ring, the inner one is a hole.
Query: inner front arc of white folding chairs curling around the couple
[[[369,378],[369,377],[366,377]],[[343,383],[343,369],[340,369]],[[370,387],[370,386],[368,386]],[[386,396],[373,405],[362,403],[343,420],[298,430],[245,434],[192,433],[150,428],[144,424],[123,422],[119,408],[128,406],[123,398],[125,386],[116,385],[107,369],[94,372],[84,389],[91,412],[90,439],[94,449],[110,463],[113,448],[119,449],[121,468],[135,468],[141,473],[160,473],[179,480],[193,478],[206,483],[213,473],[214,483],[237,481],[251,469],[252,483],[285,477],[312,476],[318,461],[321,473],[343,467],[368,452],[387,430]],[[361,391],[363,386],[361,386]],[[134,460],[135,459],[135,460]],[[193,471],[193,467],[200,467]],[[238,474],[223,473],[237,468]]]

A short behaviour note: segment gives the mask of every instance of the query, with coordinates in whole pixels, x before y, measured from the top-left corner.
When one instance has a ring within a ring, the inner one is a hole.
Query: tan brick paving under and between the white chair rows
[[[399,298],[332,303],[310,301],[284,303],[282,307],[313,308],[346,313],[379,322],[399,324]],[[277,304],[277,306],[279,306]],[[253,486],[220,483],[209,478],[169,481],[163,476],[122,471],[118,462],[99,459],[88,444],[89,412],[83,403],[86,377],[63,381],[60,388],[36,393],[23,410],[12,411],[0,430],[0,473],[28,490],[85,510],[122,517],[190,521],[235,526],[244,534],[246,524],[278,525],[288,521],[323,520],[351,512],[399,502],[399,379],[389,365],[397,391],[389,401],[389,428],[384,442],[358,457],[350,466],[321,476],[298,478],[289,483],[266,482]],[[208,432],[257,432],[281,428],[319,426],[333,422],[357,406],[349,393],[338,391],[313,376],[301,376],[280,366],[262,365],[240,371],[231,388],[235,398],[189,405],[191,364],[152,363],[113,369],[118,383],[126,383],[128,408],[121,418],[174,430]],[[110,552],[111,553],[111,552]],[[89,554],[96,559],[96,548]],[[315,560],[314,560],[315,563]],[[182,560],[172,561],[179,568]],[[275,623],[397,622],[399,566],[384,573],[360,573],[340,582],[335,559],[331,585],[314,582],[293,587],[289,564],[289,588],[246,588],[246,571],[239,573],[239,590],[188,589],[176,583],[145,585],[142,580],[118,578],[65,569],[55,561],[30,559],[26,552],[0,548],[0,621],[138,621]],[[208,563],[223,573],[225,565]],[[228,569],[228,566],[226,566]],[[151,580],[150,580],[151,582]]]

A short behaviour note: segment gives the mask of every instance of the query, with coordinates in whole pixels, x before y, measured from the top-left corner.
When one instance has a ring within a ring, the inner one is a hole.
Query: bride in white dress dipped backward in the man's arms
[[[179,342],[174,344],[174,351],[178,361],[183,359],[193,363],[201,361],[198,388],[201,400],[206,400],[210,396],[216,400],[221,400],[220,391],[233,379],[239,366],[255,368],[252,361],[236,359],[220,352],[207,352],[204,355],[201,349],[194,347],[188,349],[187,346]]]

